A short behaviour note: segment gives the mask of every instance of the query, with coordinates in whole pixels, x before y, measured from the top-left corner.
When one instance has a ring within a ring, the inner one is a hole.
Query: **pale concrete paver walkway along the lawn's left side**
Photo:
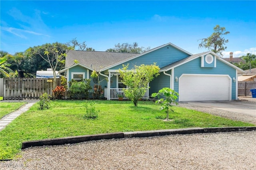
[[[0,120],[0,130],[5,128],[11,121],[13,121],[16,117],[20,116],[22,113],[28,111],[28,109],[34,105],[36,102],[28,103],[21,107],[20,109],[10,113],[8,116],[4,117]]]

